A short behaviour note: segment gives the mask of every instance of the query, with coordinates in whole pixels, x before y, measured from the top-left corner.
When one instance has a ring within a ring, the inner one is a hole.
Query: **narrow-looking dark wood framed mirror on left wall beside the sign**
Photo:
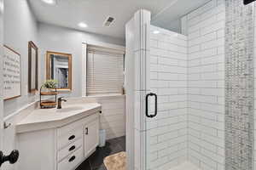
[[[38,47],[34,42],[28,42],[28,92],[38,90]]]

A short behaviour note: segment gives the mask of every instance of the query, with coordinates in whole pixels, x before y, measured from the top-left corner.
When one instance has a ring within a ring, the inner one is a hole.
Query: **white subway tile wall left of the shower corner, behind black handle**
[[[151,26],[150,90],[158,94],[158,116],[147,119],[147,169],[167,170],[187,160],[187,44],[187,37]]]

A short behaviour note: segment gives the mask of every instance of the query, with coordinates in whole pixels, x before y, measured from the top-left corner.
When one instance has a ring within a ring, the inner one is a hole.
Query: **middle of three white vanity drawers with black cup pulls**
[[[66,156],[72,154],[75,150],[78,150],[83,144],[82,139],[78,139],[72,144],[67,145],[67,147],[58,151],[58,161],[61,161]]]

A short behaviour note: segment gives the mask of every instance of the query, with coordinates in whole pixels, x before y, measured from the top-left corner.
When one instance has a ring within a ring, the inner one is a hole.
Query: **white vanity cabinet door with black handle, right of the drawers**
[[[84,127],[84,156],[96,149],[99,144],[99,120],[90,122]]]

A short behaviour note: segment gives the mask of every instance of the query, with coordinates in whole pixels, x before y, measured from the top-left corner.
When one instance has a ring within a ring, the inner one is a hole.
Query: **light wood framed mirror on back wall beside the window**
[[[72,90],[72,54],[47,51],[46,79],[56,80],[58,90]]]

